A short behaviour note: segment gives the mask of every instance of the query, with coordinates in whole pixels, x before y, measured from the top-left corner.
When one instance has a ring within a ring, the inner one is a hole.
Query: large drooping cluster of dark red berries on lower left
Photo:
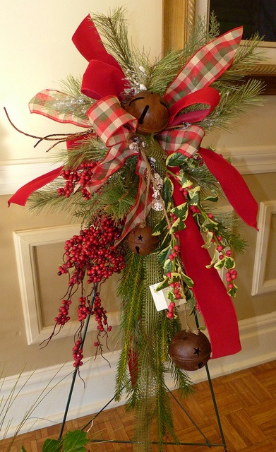
[[[120,228],[114,225],[110,218],[102,216],[102,218],[92,219],[92,225],[80,230],[80,234],[74,235],[65,242],[64,263],[59,266],[58,275],[69,275],[68,292],[59,308],[58,316],[54,319],[56,325],[49,340],[56,334],[57,327],[62,328],[70,320],[68,311],[72,297],[80,288],[81,295],[78,297],[77,309],[80,326],[73,347],[74,367],[83,364],[82,330],[88,316],[95,316],[98,332],[95,346],[101,354],[101,335],[108,337],[108,333],[112,330],[112,326],[107,322],[107,311],[102,307],[100,292],[96,292],[95,297],[92,297],[92,293],[95,285],[104,282],[113,273],[120,273],[125,267],[123,247],[114,246],[120,232]],[[85,280],[93,287],[91,293],[86,296]]]

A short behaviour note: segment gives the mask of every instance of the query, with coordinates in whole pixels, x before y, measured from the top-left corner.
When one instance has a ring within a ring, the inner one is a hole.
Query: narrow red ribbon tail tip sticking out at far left
[[[42,186],[49,184],[49,182],[52,182],[56,177],[59,176],[61,173],[62,167],[53,169],[50,172],[47,172],[46,174],[42,174],[42,176],[36,177],[32,181],[28,182],[28,184],[25,184],[16,191],[16,193],[11,196],[11,198],[8,200],[8,207],[13,204],[18,204],[19,206],[25,206],[25,203],[27,202],[29,196],[36,190],[41,189]]]

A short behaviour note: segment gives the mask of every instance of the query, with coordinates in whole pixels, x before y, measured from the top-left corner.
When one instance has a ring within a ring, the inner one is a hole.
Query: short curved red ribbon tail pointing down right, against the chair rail
[[[253,198],[239,171],[213,150],[200,148],[205,165],[215,176],[229,203],[248,226],[257,227],[258,203]]]

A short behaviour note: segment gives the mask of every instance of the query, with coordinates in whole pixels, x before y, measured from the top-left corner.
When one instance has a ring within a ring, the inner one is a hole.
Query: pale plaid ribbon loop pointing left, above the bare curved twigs
[[[86,129],[91,127],[88,119],[78,116],[78,109],[72,109],[70,113],[61,113],[58,109],[55,109],[55,105],[59,105],[62,101],[69,102],[66,94],[56,90],[42,90],[32,97],[29,102],[29,109],[31,113],[42,114],[42,116],[57,122],[74,124]]]

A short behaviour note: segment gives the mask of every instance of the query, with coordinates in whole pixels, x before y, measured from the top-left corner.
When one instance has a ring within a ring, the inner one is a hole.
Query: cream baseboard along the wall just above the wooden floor
[[[271,314],[240,321],[239,329],[242,345],[241,352],[229,357],[211,359],[208,367],[212,379],[276,359],[276,311]],[[80,378],[76,379],[68,411],[68,420],[97,412],[112,400],[119,352],[110,352],[104,357],[108,362],[101,357],[97,357],[97,359],[88,359],[83,365],[81,369],[83,380]],[[8,436],[13,435],[25,412],[30,409],[30,406],[35,403],[35,400],[40,395],[42,398],[41,403],[30,413],[20,433],[62,422],[71,386],[72,372],[72,363],[70,362],[64,364],[61,368],[54,366],[37,370],[34,374],[30,374],[30,372],[23,373],[18,381],[17,391],[21,388],[20,393],[7,416],[7,419],[12,418]],[[196,372],[190,372],[190,376],[194,383],[207,379],[204,368]],[[10,376],[4,381],[1,388],[2,403],[8,397],[17,380],[18,375]],[[85,381],[85,385],[83,381]],[[169,389],[173,389],[173,383],[169,378],[167,385]],[[125,399],[122,398],[119,404],[121,405],[124,402]],[[111,401],[108,408],[114,408],[116,405],[118,403]]]

